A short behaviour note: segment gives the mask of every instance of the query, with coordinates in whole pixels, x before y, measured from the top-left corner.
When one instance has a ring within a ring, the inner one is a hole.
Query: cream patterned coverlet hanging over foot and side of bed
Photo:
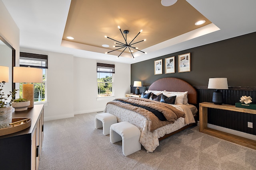
[[[118,122],[128,121],[129,123],[136,125],[136,127],[138,127],[141,132],[140,143],[148,152],[153,152],[156,147],[159,146],[158,138],[195,122],[193,114],[187,105],[179,104],[172,106],[180,109],[181,111],[184,111],[186,113],[186,118],[180,117],[173,124],[165,125],[152,132],[148,130],[148,120],[139,113],[115,106],[113,104],[108,104],[104,112],[115,115]]]

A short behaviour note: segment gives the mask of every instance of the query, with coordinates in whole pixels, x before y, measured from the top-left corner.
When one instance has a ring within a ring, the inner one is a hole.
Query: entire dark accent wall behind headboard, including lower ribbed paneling
[[[190,53],[190,72],[178,72],[178,55]],[[175,56],[175,73],[165,74],[164,59]],[[163,59],[163,74],[154,75],[154,61]],[[194,86],[198,92],[198,103],[211,102],[214,90],[207,89],[209,78],[228,78],[228,90],[221,90],[224,104],[235,105],[241,96],[251,96],[256,103],[256,32],[218,41],[131,64],[131,92],[135,91],[134,81],[142,81],[140,93],[148,89],[154,81],[175,77],[185,80]],[[253,122],[253,129],[247,127],[247,122]],[[256,135],[256,115],[208,110],[208,123]]]

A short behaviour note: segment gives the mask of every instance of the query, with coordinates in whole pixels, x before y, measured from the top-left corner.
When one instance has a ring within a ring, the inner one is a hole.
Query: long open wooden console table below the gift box
[[[236,107],[233,105],[216,105],[210,102],[203,102],[199,104],[199,121],[200,121],[200,132],[218,137],[220,139],[224,139],[226,141],[230,141],[233,143],[236,143],[238,145],[242,145],[244,147],[256,149],[256,141],[252,139],[247,139],[244,137],[232,135],[230,133],[218,131],[215,129],[211,129],[207,127],[208,123],[208,108],[214,108],[214,109],[222,109],[222,110],[229,110],[229,111],[237,111],[237,112],[242,112],[242,113],[251,113],[251,114],[256,114],[256,110],[253,109],[244,109],[240,107]],[[255,128],[255,127],[254,127]]]

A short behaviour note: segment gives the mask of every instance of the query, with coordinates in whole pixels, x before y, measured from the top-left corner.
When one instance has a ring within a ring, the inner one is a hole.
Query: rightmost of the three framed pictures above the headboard
[[[190,53],[178,55],[179,72],[190,72]]]

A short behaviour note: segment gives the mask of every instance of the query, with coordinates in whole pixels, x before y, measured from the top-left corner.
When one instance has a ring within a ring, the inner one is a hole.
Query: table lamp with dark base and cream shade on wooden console
[[[219,89],[228,89],[227,78],[209,78],[208,82],[209,89],[216,89],[212,95],[212,102],[214,104],[221,105],[223,103],[222,92]]]

